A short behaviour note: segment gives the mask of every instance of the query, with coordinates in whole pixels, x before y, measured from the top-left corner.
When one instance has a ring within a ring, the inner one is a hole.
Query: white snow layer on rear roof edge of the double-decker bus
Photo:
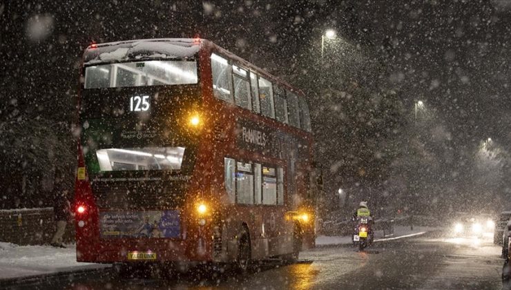
[[[183,59],[193,57],[202,41],[197,39],[137,39],[98,43],[84,53],[84,65],[126,61],[128,59]]]

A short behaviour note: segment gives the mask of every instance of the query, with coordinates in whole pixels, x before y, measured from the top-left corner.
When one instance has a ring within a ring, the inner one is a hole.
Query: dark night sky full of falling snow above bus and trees
[[[410,115],[418,99],[436,112],[454,150],[473,151],[487,137],[511,149],[511,6],[505,1],[77,0],[0,5],[0,62],[7,68],[0,70],[0,120],[20,110],[70,122],[79,59],[91,40],[200,35],[292,80],[310,73],[305,60],[319,57],[322,32],[334,28],[343,41],[371,50],[388,68],[380,77],[400,90]],[[36,16],[36,27],[42,29],[30,32]]]

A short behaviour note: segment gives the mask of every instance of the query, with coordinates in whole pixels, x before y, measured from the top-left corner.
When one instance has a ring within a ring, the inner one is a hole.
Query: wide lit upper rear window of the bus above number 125
[[[85,68],[84,88],[197,84],[197,61],[136,61]]]

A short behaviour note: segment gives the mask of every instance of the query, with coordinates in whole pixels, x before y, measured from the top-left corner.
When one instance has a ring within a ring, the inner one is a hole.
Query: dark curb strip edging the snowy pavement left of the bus
[[[59,278],[74,276],[87,276],[93,273],[107,273],[113,271],[112,267],[100,267],[95,269],[77,269],[68,271],[59,271],[55,273],[46,273],[41,275],[23,276],[17,278],[6,278],[0,279],[0,288],[4,289],[7,287],[26,287],[28,284],[39,282],[41,279],[58,280]]]

